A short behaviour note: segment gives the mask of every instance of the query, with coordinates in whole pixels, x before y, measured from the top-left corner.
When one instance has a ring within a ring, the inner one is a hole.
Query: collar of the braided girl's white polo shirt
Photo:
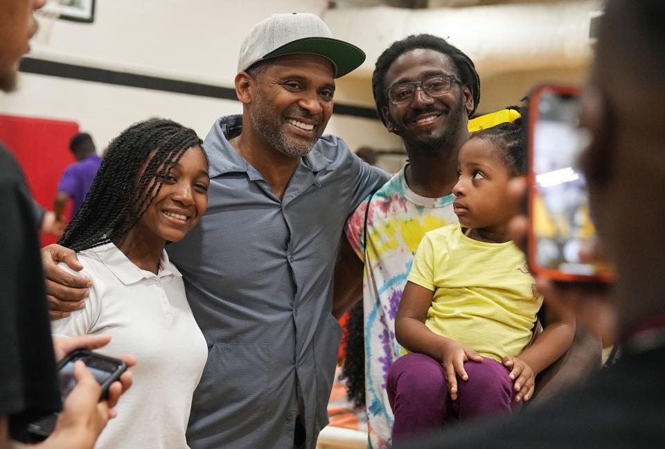
[[[169,264],[168,254],[165,250],[162,250],[161,257],[159,258],[159,273],[154,274],[152,272],[141,270],[130,261],[130,259],[125,256],[125,254],[116,247],[113,243],[107,243],[106,245],[101,245],[89,249],[89,251],[94,252],[99,258],[100,262],[103,263],[110,272],[118,278],[119,281],[125,285],[131,285],[137,283],[143,279],[154,279],[155,277],[166,277],[166,276],[178,276],[182,277],[182,274],[177,270],[173,265]]]

